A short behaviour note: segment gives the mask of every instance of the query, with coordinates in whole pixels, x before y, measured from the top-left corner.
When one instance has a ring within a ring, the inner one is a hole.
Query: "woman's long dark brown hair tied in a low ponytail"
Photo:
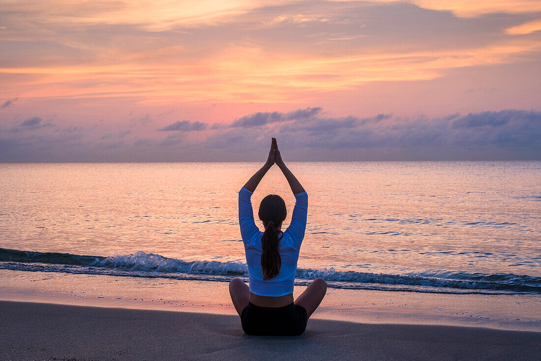
[[[266,225],[267,229],[261,237],[261,270],[263,271],[263,280],[270,280],[278,276],[282,259],[278,252],[278,245],[283,236],[282,231],[277,231],[286,219],[286,202],[282,197],[275,194],[269,194],[262,199],[259,205],[259,219]]]

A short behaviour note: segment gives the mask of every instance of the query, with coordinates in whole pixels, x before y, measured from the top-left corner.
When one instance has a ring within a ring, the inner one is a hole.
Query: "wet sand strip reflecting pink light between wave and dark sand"
[[[295,286],[294,297],[304,286]],[[0,269],[0,300],[235,315],[226,282]],[[311,319],[541,332],[539,295],[328,289]]]

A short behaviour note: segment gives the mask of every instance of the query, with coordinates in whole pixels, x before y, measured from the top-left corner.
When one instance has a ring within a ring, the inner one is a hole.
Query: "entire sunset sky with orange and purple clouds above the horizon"
[[[541,159],[541,0],[0,0],[0,162]]]

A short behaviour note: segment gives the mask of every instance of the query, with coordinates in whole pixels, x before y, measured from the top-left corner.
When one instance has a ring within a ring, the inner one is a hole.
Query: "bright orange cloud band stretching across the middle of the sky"
[[[0,73],[34,75],[31,87],[14,85],[25,97],[141,96],[147,104],[179,99],[287,103],[367,82],[436,79],[448,69],[508,63],[539,49],[539,42],[516,41],[476,49],[307,57],[231,46],[186,65],[0,68]]]

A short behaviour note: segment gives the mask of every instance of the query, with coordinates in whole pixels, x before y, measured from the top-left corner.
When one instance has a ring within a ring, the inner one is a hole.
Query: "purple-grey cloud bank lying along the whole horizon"
[[[246,123],[233,126],[240,119]],[[331,117],[321,108],[304,108],[252,113],[235,119],[229,127],[207,127],[207,132],[197,134],[182,131],[192,129],[197,122],[177,123],[170,126],[180,131],[168,133],[165,139],[153,139],[152,133],[149,138],[137,138],[142,133],[120,131],[102,137],[109,141],[101,141],[100,134],[89,129],[52,125],[31,117],[19,120],[16,132],[0,129],[0,161],[257,160],[265,156],[271,137],[278,138],[288,160],[541,159],[541,112],[533,110],[410,118],[386,113]],[[36,127],[43,130],[21,130]],[[134,143],[123,141],[127,134],[134,134]],[[157,134],[154,131],[154,136]]]

